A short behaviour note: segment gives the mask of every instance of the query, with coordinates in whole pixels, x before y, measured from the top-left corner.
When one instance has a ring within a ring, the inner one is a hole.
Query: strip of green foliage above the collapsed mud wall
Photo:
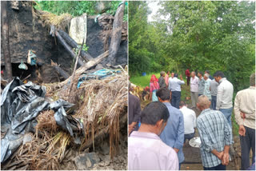
[[[98,14],[97,1],[36,1],[38,4],[34,6],[37,10],[46,10],[48,12],[60,15],[64,13],[71,14],[73,16],[79,16],[84,13],[89,15]],[[114,14],[118,9],[118,5],[121,1],[104,2],[110,3],[110,9],[104,10],[107,14]],[[127,6],[125,10],[124,20],[127,21]]]

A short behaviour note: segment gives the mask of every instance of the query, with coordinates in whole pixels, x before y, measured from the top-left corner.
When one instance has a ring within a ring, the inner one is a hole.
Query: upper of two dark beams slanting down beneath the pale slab
[[[58,33],[61,34],[62,38],[64,38],[64,40],[72,47],[72,48],[77,48],[78,47],[78,43],[74,41],[73,38],[70,37],[69,34],[67,34],[65,31],[63,30],[58,30]],[[86,60],[86,62],[89,62],[91,59],[93,59],[90,54],[86,51],[81,50],[81,54],[82,58],[84,58]]]

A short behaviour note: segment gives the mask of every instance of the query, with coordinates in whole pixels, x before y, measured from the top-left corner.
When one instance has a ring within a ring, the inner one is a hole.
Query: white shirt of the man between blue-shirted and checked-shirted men
[[[186,106],[183,106],[180,110],[182,111],[184,118],[184,134],[194,133],[197,121],[194,110],[188,109]]]

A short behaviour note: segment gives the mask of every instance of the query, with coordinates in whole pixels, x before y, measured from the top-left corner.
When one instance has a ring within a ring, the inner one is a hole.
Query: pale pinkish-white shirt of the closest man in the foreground
[[[128,170],[178,170],[178,156],[157,134],[134,131],[128,137]]]

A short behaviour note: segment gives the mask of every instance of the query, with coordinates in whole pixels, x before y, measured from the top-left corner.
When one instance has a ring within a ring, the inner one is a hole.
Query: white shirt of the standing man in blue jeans
[[[233,106],[233,85],[226,78],[222,78],[219,82],[216,109],[230,109]]]

